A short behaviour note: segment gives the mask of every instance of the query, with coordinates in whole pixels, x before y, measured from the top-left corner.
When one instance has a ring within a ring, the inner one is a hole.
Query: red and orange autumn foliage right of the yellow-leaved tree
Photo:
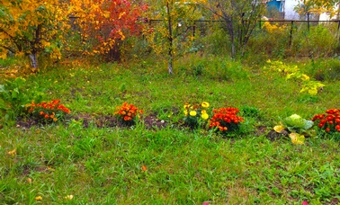
[[[139,35],[145,23],[142,14],[146,4],[128,0],[71,0],[72,15],[81,27],[86,43],[91,44],[90,53],[108,53],[127,36]]]

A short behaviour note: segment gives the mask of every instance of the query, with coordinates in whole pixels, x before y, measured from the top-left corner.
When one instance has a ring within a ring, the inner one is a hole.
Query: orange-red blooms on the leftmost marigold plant
[[[42,119],[45,120],[53,120],[57,121],[57,115],[60,115],[58,112],[65,112],[67,114],[71,113],[71,111],[65,107],[63,104],[60,104],[60,100],[52,100],[49,103],[34,103],[32,102],[29,105],[29,113],[34,114],[35,112],[38,113]],[[56,114],[57,113],[57,114]]]

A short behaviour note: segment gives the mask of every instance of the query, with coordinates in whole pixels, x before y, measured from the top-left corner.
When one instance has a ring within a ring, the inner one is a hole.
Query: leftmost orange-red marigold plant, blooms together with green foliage
[[[60,100],[52,100],[45,103],[34,103],[26,105],[26,111],[33,119],[41,122],[54,122],[58,120],[65,120],[65,115],[71,111],[60,103]]]

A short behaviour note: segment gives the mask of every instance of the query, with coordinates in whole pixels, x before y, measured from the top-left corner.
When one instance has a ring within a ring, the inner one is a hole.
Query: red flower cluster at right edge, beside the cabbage
[[[319,120],[318,127],[325,129],[327,132],[338,131],[340,132],[340,109],[330,109],[326,114],[317,114],[313,117],[312,121]]]

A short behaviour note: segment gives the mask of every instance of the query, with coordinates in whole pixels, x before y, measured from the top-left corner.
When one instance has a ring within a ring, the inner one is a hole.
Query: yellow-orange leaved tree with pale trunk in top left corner
[[[0,58],[26,55],[38,67],[41,51],[61,58],[62,31],[69,28],[67,5],[58,0],[0,1]]]

